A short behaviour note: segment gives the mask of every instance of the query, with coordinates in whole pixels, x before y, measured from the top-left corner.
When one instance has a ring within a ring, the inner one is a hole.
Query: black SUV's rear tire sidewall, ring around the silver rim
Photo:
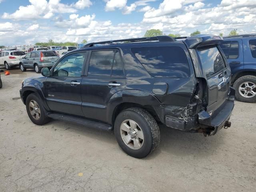
[[[138,150],[134,150],[129,148],[124,141],[122,140],[121,133],[120,133],[120,126],[124,120],[133,120],[135,121],[141,128],[143,135],[144,135],[144,143],[142,147]],[[130,156],[136,158],[143,158],[147,156],[153,147],[153,139],[151,129],[144,118],[142,118],[139,114],[132,110],[124,110],[116,117],[116,121],[114,124],[114,133],[116,136],[116,140],[119,146]]]

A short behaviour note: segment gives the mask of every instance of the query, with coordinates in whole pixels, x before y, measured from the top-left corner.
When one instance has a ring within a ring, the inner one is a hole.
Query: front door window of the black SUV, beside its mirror
[[[55,77],[80,77],[86,52],[75,53],[64,57],[55,66],[53,76]]]

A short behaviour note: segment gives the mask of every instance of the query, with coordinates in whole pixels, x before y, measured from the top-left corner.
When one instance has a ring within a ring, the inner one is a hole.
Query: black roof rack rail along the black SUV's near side
[[[88,43],[84,45],[83,48],[92,47],[96,44],[106,44],[106,43],[114,43],[114,42],[143,42],[143,41],[155,41],[155,40],[158,40],[159,42],[176,41],[176,39],[173,37],[162,35],[162,36],[155,36],[155,37],[142,37],[142,38],[133,38],[133,39],[120,39],[120,40],[93,42],[93,43]]]

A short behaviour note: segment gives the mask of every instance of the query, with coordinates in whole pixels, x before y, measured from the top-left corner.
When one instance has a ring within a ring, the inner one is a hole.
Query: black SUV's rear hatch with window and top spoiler
[[[221,110],[221,106],[224,106],[230,93],[231,70],[224,53],[218,46],[223,40],[216,36],[208,37],[208,40],[204,37],[200,38],[197,42],[194,41],[196,44],[189,44],[187,41],[189,38],[184,42],[190,48],[196,77],[204,79],[207,84],[208,90],[204,90],[207,112],[214,117]],[[194,40],[195,37],[191,39]]]

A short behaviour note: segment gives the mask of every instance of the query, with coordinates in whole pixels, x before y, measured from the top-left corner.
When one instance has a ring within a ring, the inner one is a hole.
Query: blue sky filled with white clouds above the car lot
[[[256,33],[256,0],[0,0],[0,45]]]

